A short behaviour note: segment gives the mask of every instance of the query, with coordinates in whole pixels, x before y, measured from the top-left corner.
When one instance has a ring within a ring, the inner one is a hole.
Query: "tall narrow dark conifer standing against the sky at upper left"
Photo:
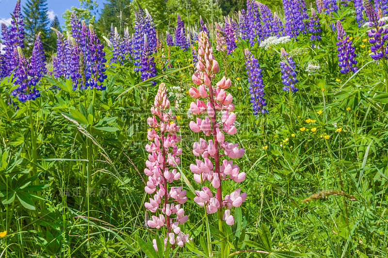
[[[47,0],[27,0],[25,6],[23,6],[25,40],[30,53],[33,42],[39,32],[41,32],[42,42],[46,43],[46,38],[49,34],[47,11]]]

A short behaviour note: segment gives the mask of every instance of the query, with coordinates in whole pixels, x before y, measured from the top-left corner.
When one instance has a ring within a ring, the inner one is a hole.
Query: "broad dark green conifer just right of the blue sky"
[[[97,22],[97,28],[104,34],[108,34],[113,28],[121,29],[121,32],[128,26],[131,27],[131,0],[108,0],[104,3],[100,18]]]

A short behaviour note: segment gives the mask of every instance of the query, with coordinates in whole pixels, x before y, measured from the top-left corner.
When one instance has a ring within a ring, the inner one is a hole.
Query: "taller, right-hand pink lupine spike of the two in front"
[[[192,79],[198,88],[192,87],[189,90],[190,95],[196,99],[191,103],[190,109],[194,115],[205,114],[206,116],[204,119],[197,117],[195,122],[190,121],[190,129],[194,133],[203,132],[205,136],[212,136],[212,139],[207,141],[200,138],[199,142],[194,142],[193,153],[199,159],[195,160],[195,164],[190,165],[190,170],[194,173],[195,182],[209,181],[211,186],[217,189],[217,193],[213,195],[210,188],[204,186],[201,191],[195,191],[194,201],[199,206],[205,207],[208,214],[218,212],[218,225],[222,231],[221,220],[226,221],[227,225],[232,225],[234,218],[230,214],[230,209],[241,206],[246,198],[246,193],[241,193],[240,188],[223,197],[222,181],[242,182],[245,179],[245,173],[239,173],[239,167],[227,158],[240,158],[245,150],[239,149],[237,143],[225,141],[224,134],[237,133],[233,125],[236,114],[231,113],[234,111],[233,97],[225,91],[230,87],[231,81],[224,76],[215,87],[212,86],[211,80],[220,71],[220,67],[214,59],[208,35],[204,31],[199,35],[198,62],[195,67],[196,71]],[[205,99],[207,103],[199,98]],[[218,122],[218,119],[221,122]],[[226,157],[224,160],[220,160],[221,150]]]

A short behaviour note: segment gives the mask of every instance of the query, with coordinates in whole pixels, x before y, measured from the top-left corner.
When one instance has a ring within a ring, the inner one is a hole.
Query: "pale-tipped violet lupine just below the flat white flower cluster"
[[[280,72],[282,73],[282,83],[284,84],[283,91],[296,92],[298,89],[295,87],[295,84],[298,82],[296,78],[295,71],[295,62],[292,60],[291,56],[288,56],[288,53],[282,47],[280,49],[281,56],[283,58],[280,61]]]

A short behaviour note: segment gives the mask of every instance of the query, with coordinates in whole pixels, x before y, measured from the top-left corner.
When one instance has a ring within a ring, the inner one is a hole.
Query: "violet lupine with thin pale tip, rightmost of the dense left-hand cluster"
[[[105,52],[104,45],[101,44],[98,39],[95,30],[92,25],[89,25],[89,49],[90,49],[90,63],[91,63],[91,76],[90,80],[86,81],[85,86],[90,87],[90,89],[96,88],[98,91],[103,91],[106,89],[103,86],[104,79],[107,78],[105,75]]]

